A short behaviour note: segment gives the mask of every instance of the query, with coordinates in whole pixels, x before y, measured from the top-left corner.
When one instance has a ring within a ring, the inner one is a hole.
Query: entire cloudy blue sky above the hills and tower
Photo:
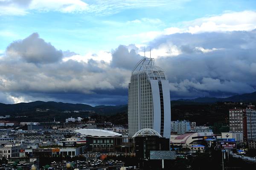
[[[172,100],[256,91],[255,0],[0,0],[0,103],[128,102],[145,55]]]

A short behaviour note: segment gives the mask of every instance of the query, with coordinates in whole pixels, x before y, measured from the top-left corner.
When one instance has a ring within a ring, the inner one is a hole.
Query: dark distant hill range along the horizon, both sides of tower
[[[179,105],[207,105],[215,102],[255,102],[256,92],[246,93],[242,95],[234,95],[228,98],[195,98],[195,99],[179,99],[171,101],[171,106]],[[87,110],[94,111],[99,114],[113,115],[120,112],[127,112],[127,104],[119,106],[90,106],[87,104],[70,104],[55,101],[34,101],[29,103],[18,103],[18,104],[2,104],[0,103],[0,114],[14,114],[17,112],[35,112],[36,109],[49,109],[53,112],[63,112],[63,111],[74,111],[74,110]]]

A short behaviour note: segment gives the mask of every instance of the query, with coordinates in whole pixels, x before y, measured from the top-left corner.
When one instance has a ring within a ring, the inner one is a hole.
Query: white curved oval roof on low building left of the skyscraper
[[[108,138],[108,137],[122,136],[119,133],[115,133],[109,130],[101,130],[101,129],[79,129],[79,130],[75,130],[75,132],[81,135],[86,135],[94,138]]]

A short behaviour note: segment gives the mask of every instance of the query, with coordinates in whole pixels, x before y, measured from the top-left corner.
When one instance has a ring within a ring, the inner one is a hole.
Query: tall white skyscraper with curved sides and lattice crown
[[[154,58],[143,58],[131,73],[128,94],[129,135],[150,128],[170,138],[171,102],[169,81]]]

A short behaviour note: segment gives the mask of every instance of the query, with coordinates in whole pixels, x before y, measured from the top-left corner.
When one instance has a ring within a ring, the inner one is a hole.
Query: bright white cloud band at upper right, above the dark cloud
[[[134,20],[131,22],[140,22]],[[256,12],[230,12],[221,15],[203,17],[196,20],[180,23],[181,28],[169,27],[163,31],[142,32],[134,35],[122,35],[118,38],[140,38],[143,43],[153,40],[162,35],[172,35],[176,33],[198,34],[202,32],[231,32],[231,31],[251,31],[256,29]]]

